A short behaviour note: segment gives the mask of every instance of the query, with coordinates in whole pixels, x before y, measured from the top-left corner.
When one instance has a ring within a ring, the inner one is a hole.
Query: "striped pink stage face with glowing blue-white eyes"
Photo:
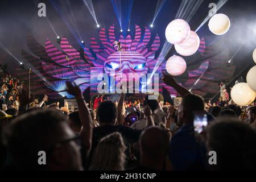
[[[120,64],[121,59],[121,64]],[[106,59],[104,64],[104,72],[110,74],[115,71],[115,76],[125,74],[128,78],[129,73],[148,72],[148,64],[146,58],[135,51],[114,52]]]

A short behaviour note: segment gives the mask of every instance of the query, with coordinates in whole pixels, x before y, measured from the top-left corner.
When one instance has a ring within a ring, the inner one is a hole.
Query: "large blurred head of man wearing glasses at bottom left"
[[[81,170],[77,136],[67,117],[55,109],[35,110],[20,115],[11,127],[9,149],[18,170]],[[46,164],[39,164],[39,151]]]

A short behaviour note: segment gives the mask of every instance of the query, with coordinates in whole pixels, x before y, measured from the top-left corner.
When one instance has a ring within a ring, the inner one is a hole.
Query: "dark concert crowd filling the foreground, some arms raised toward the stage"
[[[7,88],[3,92],[19,104],[9,106],[5,100],[12,112],[0,111],[1,170],[256,168],[254,105],[242,111],[234,104],[205,104],[202,97],[164,75],[164,82],[182,97],[179,106],[148,96],[126,102],[121,93],[117,103],[97,97],[96,106],[90,109],[79,86],[67,82],[67,92],[76,98],[78,106],[77,110],[68,110],[58,104],[43,106],[47,96],[40,103],[31,101],[27,85],[21,87],[18,80],[8,78],[7,82],[3,79],[6,86],[2,88]],[[197,133],[194,120],[199,113],[207,118],[207,125]],[[46,153],[43,164],[39,163],[40,151]],[[217,155],[214,164],[209,163],[210,151]]]

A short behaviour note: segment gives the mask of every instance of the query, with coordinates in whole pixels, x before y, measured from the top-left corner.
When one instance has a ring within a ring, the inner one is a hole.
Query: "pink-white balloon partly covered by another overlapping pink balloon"
[[[191,56],[196,53],[197,49],[200,46],[200,39],[196,32],[191,31],[190,36],[184,42],[175,44],[174,47],[182,56]]]

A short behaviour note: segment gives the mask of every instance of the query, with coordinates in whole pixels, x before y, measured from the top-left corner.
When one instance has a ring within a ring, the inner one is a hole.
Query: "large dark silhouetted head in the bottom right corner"
[[[215,151],[217,170],[255,170],[256,132],[247,123],[236,119],[224,119],[208,129],[208,151]]]

